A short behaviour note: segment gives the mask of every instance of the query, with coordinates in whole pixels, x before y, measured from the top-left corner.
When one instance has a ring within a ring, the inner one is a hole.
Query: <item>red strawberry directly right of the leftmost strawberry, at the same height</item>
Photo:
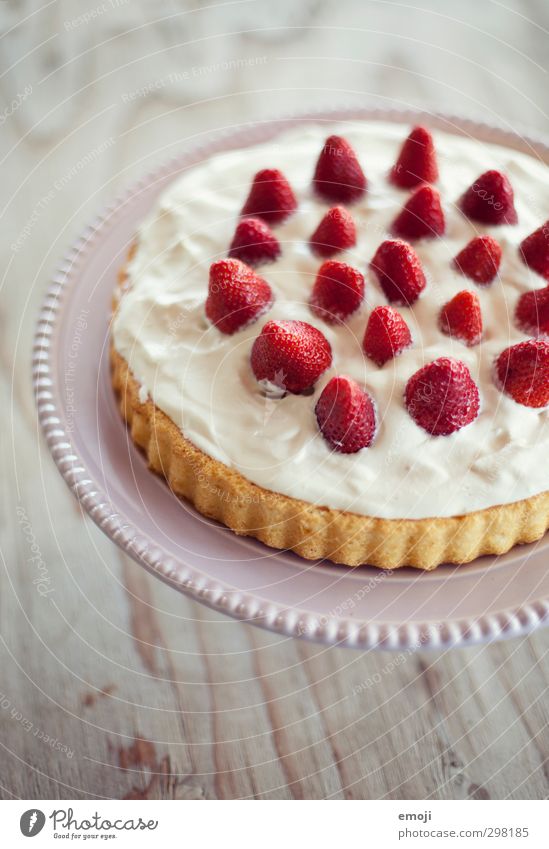
[[[354,313],[364,297],[364,277],[346,262],[329,259],[316,275],[311,309],[328,324],[344,321]]]

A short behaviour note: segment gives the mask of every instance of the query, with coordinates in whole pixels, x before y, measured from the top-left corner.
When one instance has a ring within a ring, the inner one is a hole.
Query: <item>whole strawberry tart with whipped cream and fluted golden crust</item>
[[[433,569],[549,526],[549,172],[424,127],[300,126],[185,172],[119,275],[151,469],[238,534]]]

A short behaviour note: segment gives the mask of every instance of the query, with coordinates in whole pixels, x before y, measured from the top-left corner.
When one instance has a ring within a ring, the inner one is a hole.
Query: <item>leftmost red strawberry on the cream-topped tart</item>
[[[206,315],[222,333],[251,324],[273,300],[267,281],[239,259],[220,259],[210,267]]]

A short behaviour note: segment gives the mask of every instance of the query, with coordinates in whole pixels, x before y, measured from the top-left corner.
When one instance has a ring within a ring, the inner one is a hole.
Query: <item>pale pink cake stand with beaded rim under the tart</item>
[[[174,589],[216,610],[280,634],[361,649],[463,646],[524,634],[549,620],[549,535],[502,557],[432,573],[308,562],[237,537],[178,500],[148,471],[116,407],[108,364],[111,295],[159,192],[219,151],[299,123],[356,119],[426,122],[549,162],[541,141],[407,111],[323,112],[212,134],[116,200],[63,261],[34,340],[40,422],[61,474],[104,533]]]

